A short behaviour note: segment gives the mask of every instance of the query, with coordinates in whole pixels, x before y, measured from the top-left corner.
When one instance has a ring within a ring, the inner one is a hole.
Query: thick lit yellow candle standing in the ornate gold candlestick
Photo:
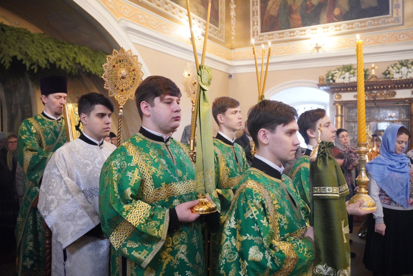
[[[363,40],[357,35],[357,123],[358,143],[366,143],[366,103],[364,98]]]

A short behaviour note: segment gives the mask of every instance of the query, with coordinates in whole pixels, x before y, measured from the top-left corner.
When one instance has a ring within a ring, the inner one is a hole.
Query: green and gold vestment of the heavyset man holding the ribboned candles
[[[112,276],[122,274],[122,262],[127,276],[204,275],[199,219],[168,232],[169,208],[197,199],[186,145],[135,134],[104,163],[99,196]]]

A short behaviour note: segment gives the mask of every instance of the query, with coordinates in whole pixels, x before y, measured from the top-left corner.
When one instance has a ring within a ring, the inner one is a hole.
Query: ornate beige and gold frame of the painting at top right
[[[401,26],[404,24],[404,0],[389,0],[390,11],[387,15],[381,15],[370,18],[338,21],[336,23],[319,24],[306,27],[298,27],[294,29],[284,29],[279,31],[266,31],[261,33],[261,0],[250,0],[251,7],[251,38],[255,43],[266,43],[268,41],[282,41],[291,39],[308,39],[309,37],[322,33],[337,33],[339,35],[360,30],[360,32],[372,31],[387,27]],[[269,14],[280,14],[280,1],[278,4],[273,3],[273,7],[269,9]],[[278,5],[276,7],[275,5]],[[297,9],[301,7],[297,6]],[[267,7],[268,12],[268,7]],[[287,11],[286,11],[287,12]],[[265,15],[267,16],[267,15]],[[275,17],[275,15],[273,15]],[[301,20],[300,20],[301,24]],[[363,39],[364,40],[364,39]]]

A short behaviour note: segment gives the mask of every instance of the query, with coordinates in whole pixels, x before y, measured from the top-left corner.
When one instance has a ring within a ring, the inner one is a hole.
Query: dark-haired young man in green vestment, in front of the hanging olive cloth
[[[256,154],[240,181],[225,221],[220,266],[224,276],[306,275],[314,259],[313,228],[283,161],[299,145],[297,111],[282,102],[262,100],[252,107],[248,130]]]

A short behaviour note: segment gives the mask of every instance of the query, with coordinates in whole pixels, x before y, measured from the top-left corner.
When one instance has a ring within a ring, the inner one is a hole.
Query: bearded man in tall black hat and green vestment
[[[39,188],[47,162],[67,141],[64,118],[61,117],[67,98],[66,78],[46,76],[39,79],[39,84],[45,108],[41,114],[21,123],[17,139],[17,159],[23,168],[24,190],[15,231],[18,275],[45,273],[45,230],[37,209]],[[56,216],[58,219],[58,214]]]

